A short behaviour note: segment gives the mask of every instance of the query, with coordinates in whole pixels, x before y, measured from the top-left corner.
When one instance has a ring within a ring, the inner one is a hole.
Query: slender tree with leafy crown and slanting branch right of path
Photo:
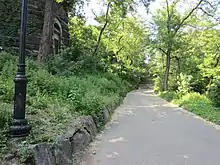
[[[170,72],[170,63],[172,53],[175,51],[175,42],[179,35],[180,29],[185,25],[190,16],[198,9],[203,0],[200,0],[194,8],[181,16],[176,9],[179,0],[173,1],[171,4],[169,0],[165,2],[165,9],[159,10],[159,14],[154,16],[154,22],[157,27],[157,49],[160,50],[166,57],[165,72],[163,78],[163,90],[168,90],[168,80]]]

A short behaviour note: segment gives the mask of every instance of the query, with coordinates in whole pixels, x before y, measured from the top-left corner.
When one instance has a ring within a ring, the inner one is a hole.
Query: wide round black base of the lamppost
[[[11,137],[25,137],[31,131],[31,125],[28,124],[26,119],[14,119],[10,127]]]

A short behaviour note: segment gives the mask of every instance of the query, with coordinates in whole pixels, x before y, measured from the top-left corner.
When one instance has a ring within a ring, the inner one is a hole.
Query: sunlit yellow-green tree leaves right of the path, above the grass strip
[[[178,11],[178,4],[182,2],[180,0],[175,3],[166,2],[161,4],[164,8],[158,10],[153,18],[156,30],[152,33],[155,36],[152,42],[157,43],[153,47],[155,54],[152,60],[155,90],[164,90],[164,73],[167,65],[170,70],[169,86],[166,90],[205,93],[210,86],[214,85],[217,88],[219,30],[216,26],[218,23],[206,15],[207,13],[199,12],[201,8],[210,6],[207,6],[206,1],[198,1],[198,8],[189,9],[193,13],[187,17],[184,24],[181,24],[181,20],[189,15],[189,11],[186,9],[183,14]],[[190,3],[188,5],[190,6]],[[167,26],[171,28],[171,36],[168,35]],[[176,28],[178,31],[175,31]],[[171,47],[169,63],[167,63],[169,49],[167,46]]]

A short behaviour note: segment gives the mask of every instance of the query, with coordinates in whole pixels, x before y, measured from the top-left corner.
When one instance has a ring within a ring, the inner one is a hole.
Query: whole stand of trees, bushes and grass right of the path
[[[181,5],[181,0],[164,0],[153,14],[154,90],[219,124],[219,2],[188,2],[184,11]]]

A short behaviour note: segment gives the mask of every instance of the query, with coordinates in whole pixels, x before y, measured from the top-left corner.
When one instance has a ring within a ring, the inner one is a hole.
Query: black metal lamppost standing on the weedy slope
[[[15,76],[15,95],[14,95],[14,113],[13,121],[10,127],[12,137],[27,136],[31,130],[25,119],[26,89],[27,77],[25,76],[25,47],[26,47],[26,29],[27,29],[27,0],[22,0],[21,14],[21,34],[20,34],[20,54],[18,61],[18,70]]]

